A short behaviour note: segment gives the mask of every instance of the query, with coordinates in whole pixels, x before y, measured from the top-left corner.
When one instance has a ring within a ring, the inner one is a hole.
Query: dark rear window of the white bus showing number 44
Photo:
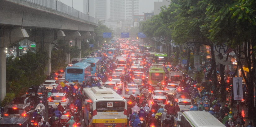
[[[123,101],[99,101],[96,102],[97,112],[113,113],[124,112],[125,103]]]

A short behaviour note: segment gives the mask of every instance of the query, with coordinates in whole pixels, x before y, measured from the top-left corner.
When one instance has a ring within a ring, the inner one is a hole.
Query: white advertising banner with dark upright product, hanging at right
[[[234,77],[233,78],[233,86],[234,86],[234,100],[242,100],[243,99],[243,78],[242,77]]]

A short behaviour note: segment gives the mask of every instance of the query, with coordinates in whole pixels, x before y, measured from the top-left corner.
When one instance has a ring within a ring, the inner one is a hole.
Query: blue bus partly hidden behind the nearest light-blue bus
[[[96,77],[100,70],[100,60],[96,58],[87,58],[84,59],[83,62],[91,64],[91,77]]]

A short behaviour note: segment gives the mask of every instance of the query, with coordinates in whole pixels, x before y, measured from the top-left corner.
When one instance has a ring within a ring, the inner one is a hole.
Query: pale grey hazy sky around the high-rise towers
[[[72,7],[72,0],[59,0],[63,3],[65,3],[68,6]],[[139,0],[140,1],[140,14],[143,14],[143,12],[145,13],[149,13],[152,10],[154,10],[154,2],[161,2],[162,0]],[[110,0],[108,0],[108,17],[110,17],[109,14],[109,10],[110,10]],[[73,7],[76,10],[79,10],[81,12],[83,12],[83,0],[73,0]]]

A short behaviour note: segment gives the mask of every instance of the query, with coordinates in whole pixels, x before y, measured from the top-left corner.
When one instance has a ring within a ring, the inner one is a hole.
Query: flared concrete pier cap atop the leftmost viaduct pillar
[[[26,38],[29,38],[29,35],[25,29],[12,28],[12,27],[2,28],[1,29],[1,48],[13,45]]]

